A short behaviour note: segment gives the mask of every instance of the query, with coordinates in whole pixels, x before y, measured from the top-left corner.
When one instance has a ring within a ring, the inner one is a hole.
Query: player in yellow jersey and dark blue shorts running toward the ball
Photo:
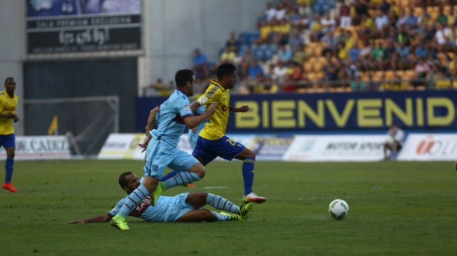
[[[217,80],[211,80],[211,84],[202,96],[192,103],[192,111],[199,106],[217,103],[217,110],[205,124],[197,138],[197,145],[192,152],[203,165],[207,165],[216,157],[226,160],[236,158],[243,161],[243,182],[245,203],[254,202],[261,204],[266,201],[262,196],[253,192],[255,152],[249,150],[241,143],[226,136],[228,115],[233,112],[247,112],[249,106],[234,108],[230,106],[230,89],[236,84],[236,67],[231,63],[223,63],[217,68]]]

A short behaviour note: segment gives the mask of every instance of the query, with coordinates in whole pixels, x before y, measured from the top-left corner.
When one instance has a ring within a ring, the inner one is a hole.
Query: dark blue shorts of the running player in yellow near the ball
[[[208,165],[216,157],[231,161],[234,157],[240,155],[245,148],[243,144],[228,136],[224,136],[219,140],[207,140],[199,136],[197,138],[197,146],[192,155],[202,160],[203,165]]]

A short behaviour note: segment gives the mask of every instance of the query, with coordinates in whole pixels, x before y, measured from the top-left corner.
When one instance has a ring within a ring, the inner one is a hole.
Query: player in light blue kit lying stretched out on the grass
[[[136,174],[124,172],[119,177],[119,185],[121,185],[121,188],[127,194],[131,194],[131,192],[140,186],[140,181],[136,177]],[[116,204],[116,207],[104,216],[75,220],[69,223],[79,224],[110,221],[127,199],[128,196],[121,199]],[[216,211],[202,209],[207,204],[228,213],[217,213]],[[252,203],[242,204],[238,207],[222,196],[203,192],[190,192],[178,194],[177,196],[160,196],[155,206],[151,205],[151,198],[147,196],[130,213],[130,216],[153,222],[241,221],[248,218],[251,208]]]

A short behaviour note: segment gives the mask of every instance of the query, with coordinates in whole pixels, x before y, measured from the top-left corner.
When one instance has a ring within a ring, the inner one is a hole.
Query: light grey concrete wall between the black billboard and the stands
[[[140,80],[174,79],[177,69],[192,67],[195,48],[200,48],[210,61],[217,61],[232,31],[238,34],[255,30],[267,1],[145,1],[145,59],[150,63],[143,63],[145,77]]]

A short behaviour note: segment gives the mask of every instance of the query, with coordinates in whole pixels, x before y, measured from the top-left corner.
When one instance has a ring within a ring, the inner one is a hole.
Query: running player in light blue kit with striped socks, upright
[[[125,204],[111,219],[111,226],[120,230],[128,230],[126,217],[146,196],[153,194],[152,204],[155,205],[163,190],[199,181],[204,177],[204,166],[192,155],[179,150],[177,144],[185,126],[194,128],[206,121],[216,112],[217,104],[209,105],[203,115],[194,116],[188,98],[194,94],[194,72],[190,69],[178,70],[175,82],[176,90],[172,95],[150,112],[150,118],[154,119],[151,123],[157,128],[151,130],[143,142],[143,145],[147,146],[143,167],[144,181],[128,195]],[[160,182],[167,167],[175,170],[177,174],[172,179]]]

